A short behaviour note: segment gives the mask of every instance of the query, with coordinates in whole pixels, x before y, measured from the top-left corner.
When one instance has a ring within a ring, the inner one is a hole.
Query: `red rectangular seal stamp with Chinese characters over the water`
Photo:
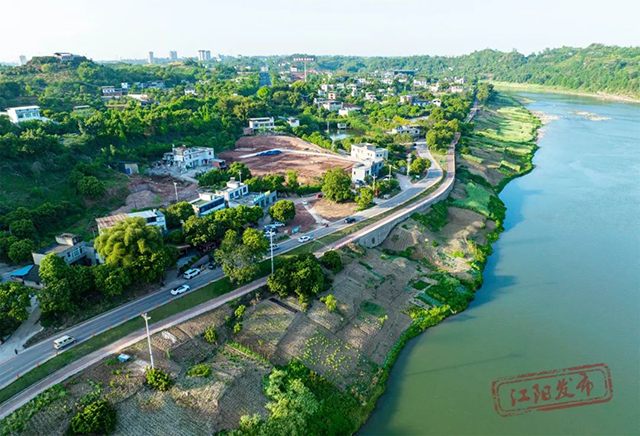
[[[604,363],[503,377],[491,385],[500,416],[606,403],[613,397],[611,371]]]

